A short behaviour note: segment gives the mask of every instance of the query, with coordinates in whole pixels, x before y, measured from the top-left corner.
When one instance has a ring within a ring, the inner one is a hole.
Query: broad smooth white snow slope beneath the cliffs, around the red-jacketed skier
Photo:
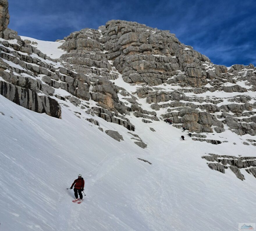
[[[244,181],[230,169],[212,171],[201,158],[255,156],[251,145],[231,150],[228,143],[180,141],[182,131],[165,122],[141,124],[131,116],[148,144],[141,149],[131,145],[124,127],[97,118],[123,135],[118,142],[70,108],[62,107],[60,120],[0,95],[1,230],[231,231],[237,223],[255,222],[255,178],[243,169]],[[232,139],[239,138],[230,132]],[[78,174],[86,182],[80,205],[66,190]]]

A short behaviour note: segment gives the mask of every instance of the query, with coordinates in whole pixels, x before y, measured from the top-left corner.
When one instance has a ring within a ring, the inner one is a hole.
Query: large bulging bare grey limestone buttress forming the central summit
[[[206,74],[198,64],[200,60],[210,60],[181,44],[169,31],[153,30],[143,24],[122,20],[111,20],[100,29],[107,58],[114,60],[113,64],[125,82],[159,85],[180,70],[188,74],[182,79],[187,84],[207,84],[203,80]]]

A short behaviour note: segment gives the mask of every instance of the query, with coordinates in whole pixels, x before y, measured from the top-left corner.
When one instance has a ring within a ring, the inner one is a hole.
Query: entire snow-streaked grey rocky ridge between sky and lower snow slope
[[[9,100],[56,118],[69,102],[99,119],[74,112],[77,117],[96,126],[103,119],[127,132],[136,132],[130,122],[136,117],[145,124],[171,119],[173,127],[185,127],[194,140],[212,144],[227,140],[212,140],[209,133],[230,130],[249,140],[256,135],[253,64],[215,65],[169,31],[122,20],[56,41],[65,53],[53,59],[37,42],[6,29],[8,2],[0,5],[5,25],[0,32],[0,93]],[[121,139],[113,131],[105,133]],[[147,147],[141,138],[135,139],[136,145]]]

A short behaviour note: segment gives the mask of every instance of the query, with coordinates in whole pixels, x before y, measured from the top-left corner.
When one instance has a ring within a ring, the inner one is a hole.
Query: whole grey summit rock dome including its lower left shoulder
[[[185,71],[187,77],[184,75],[173,81],[199,87],[207,84],[207,75],[202,73],[204,68],[201,66],[202,61],[210,62],[205,55],[180,43],[167,30],[150,28],[136,22],[111,20],[106,26],[100,26],[99,30],[86,28],[71,33],[65,38],[62,48],[72,54],[95,52],[93,61],[86,62],[89,66],[94,64],[111,70],[106,59],[113,60],[115,68],[122,73],[127,83],[155,86]],[[77,55],[73,54],[70,61],[79,64],[81,59],[78,62],[75,57]]]

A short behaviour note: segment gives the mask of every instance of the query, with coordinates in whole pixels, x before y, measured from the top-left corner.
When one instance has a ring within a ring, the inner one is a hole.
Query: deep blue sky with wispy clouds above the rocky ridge
[[[255,0],[9,0],[9,28],[55,41],[111,19],[170,30],[211,62],[256,66]]]

